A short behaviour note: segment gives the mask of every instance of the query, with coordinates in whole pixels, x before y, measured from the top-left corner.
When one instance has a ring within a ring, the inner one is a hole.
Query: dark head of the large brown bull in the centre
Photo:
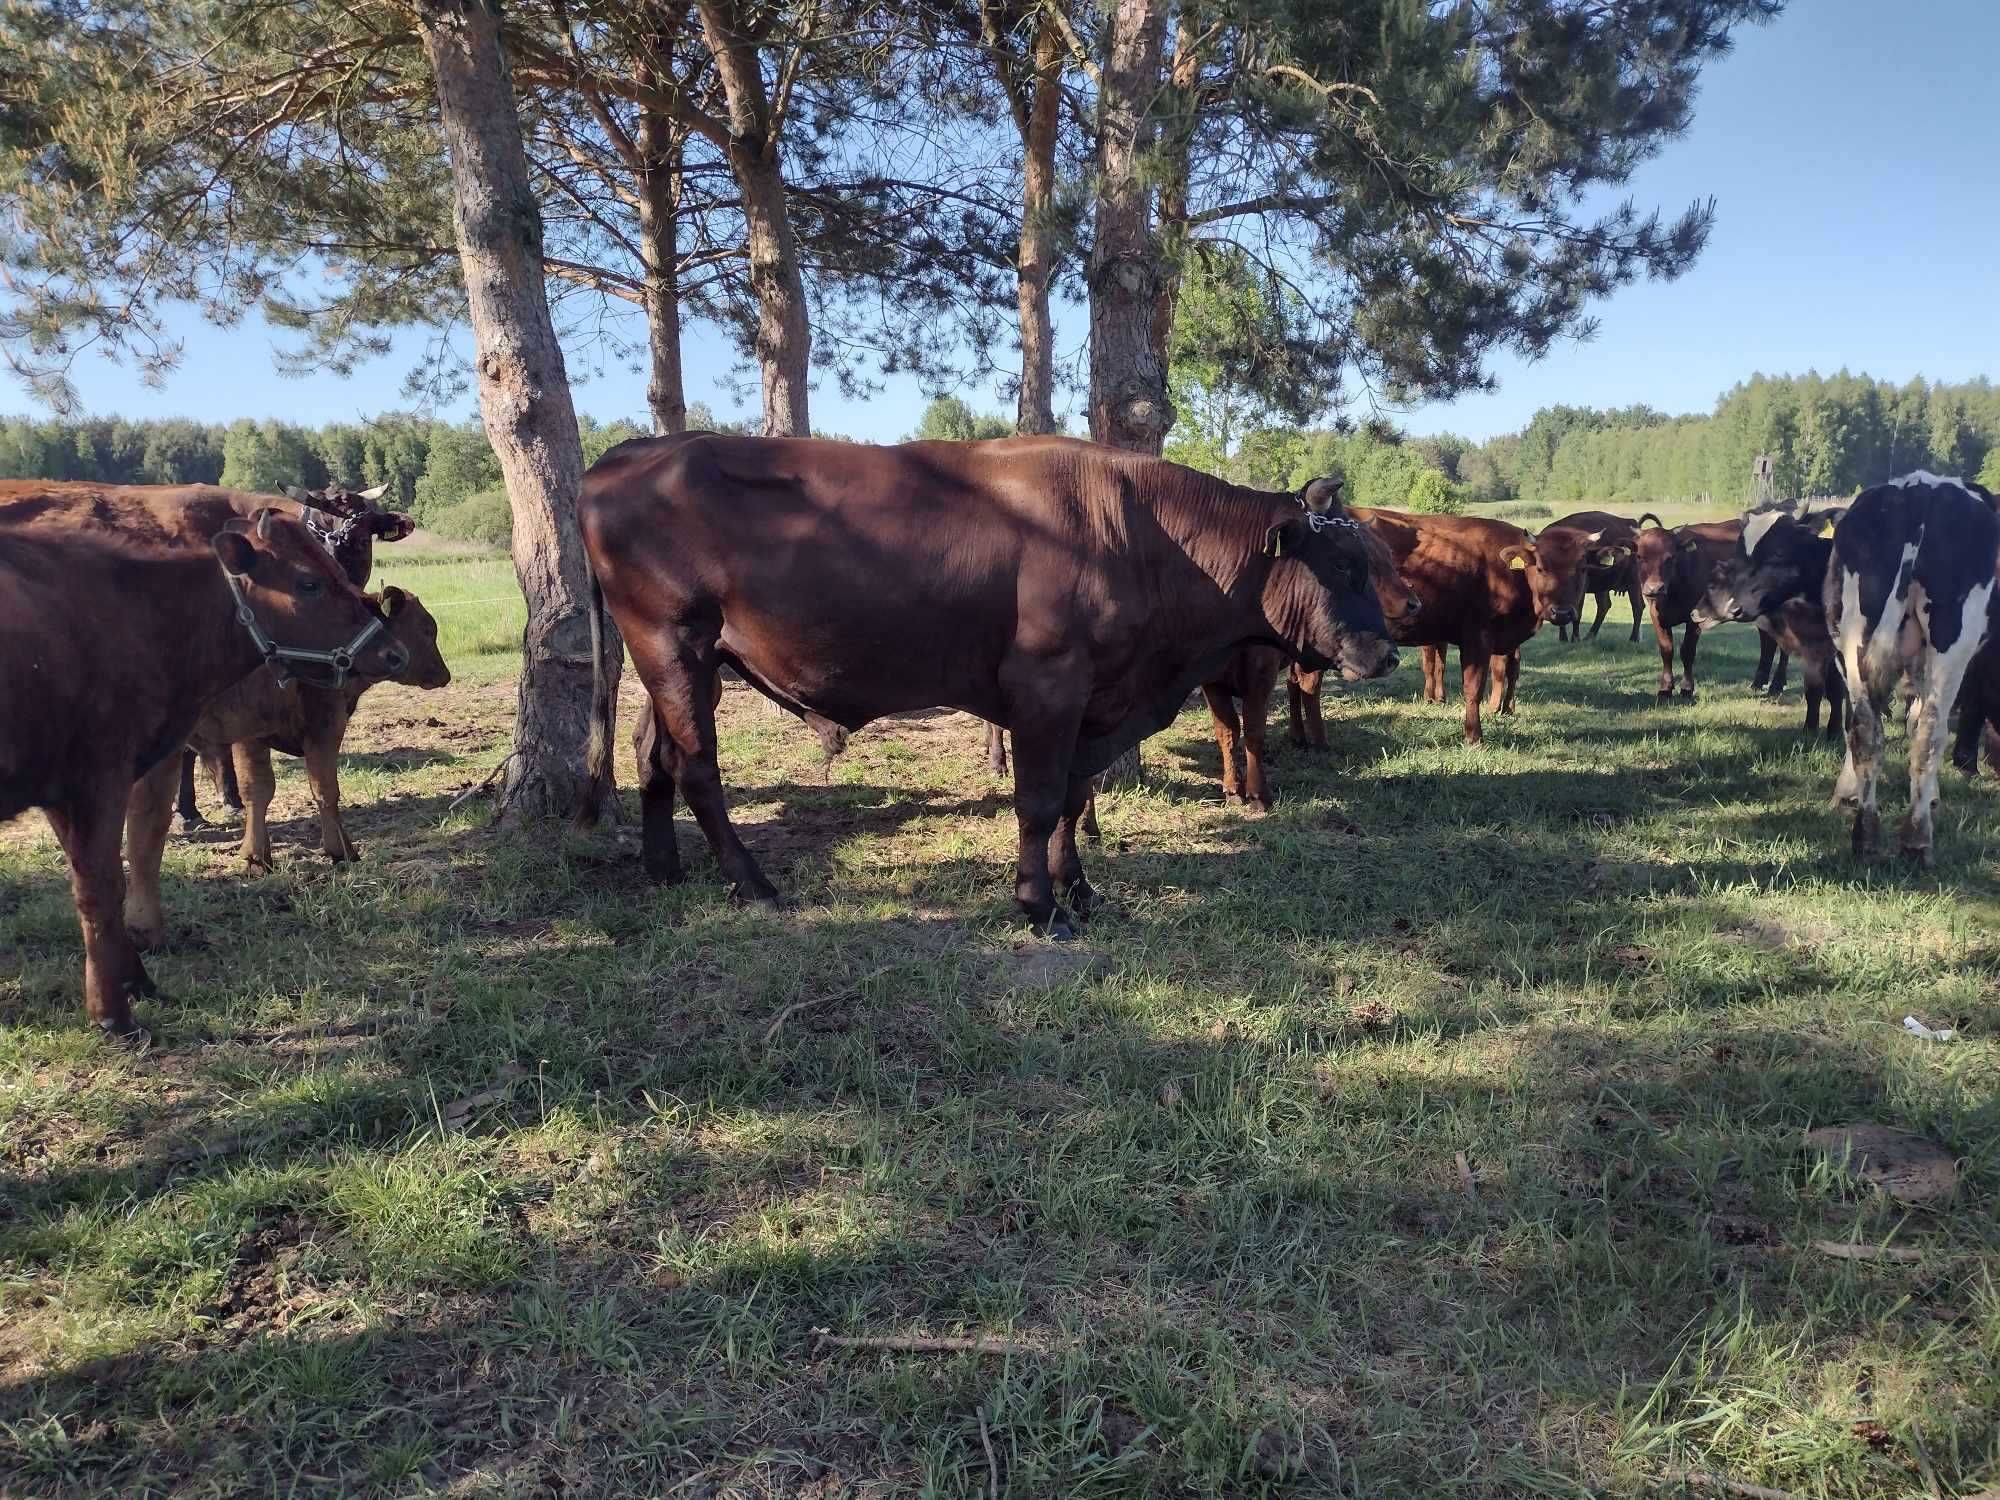
[[[1340,480],[1314,480],[1298,506],[1264,534],[1264,618],[1308,672],[1338,666],[1348,682],[1378,678],[1396,666],[1374,588],[1386,548],[1346,514]],[[1394,562],[1386,566],[1394,574]]]

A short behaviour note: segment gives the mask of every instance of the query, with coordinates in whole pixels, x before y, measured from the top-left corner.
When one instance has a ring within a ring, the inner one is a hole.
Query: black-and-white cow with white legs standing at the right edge
[[[1854,854],[1882,838],[1876,780],[1882,712],[1910,684],[1910,816],[1902,852],[1932,862],[1944,726],[1974,654],[2000,564],[2000,516],[1984,486],[1906,474],[1856,496],[1834,528],[1826,628],[1848,686],[1848,758],[1834,786],[1854,806]]]

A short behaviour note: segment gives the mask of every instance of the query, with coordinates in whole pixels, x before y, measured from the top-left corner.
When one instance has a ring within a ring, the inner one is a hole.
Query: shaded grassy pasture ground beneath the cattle
[[[1856,870],[1748,632],[1668,708],[1616,618],[1542,636],[1484,752],[1412,664],[1262,820],[1190,710],[1058,950],[960,716],[828,768],[728,694],[776,918],[686,822],[678,890],[618,834],[496,838],[448,802],[518,614],[438,614],[460,680],[350,738],[358,866],[290,762],[276,874],[170,848],[148,1058],[82,1022],[52,840],[0,830],[0,1492],[2000,1484],[2000,786],[1948,780],[1936,874]],[[1956,1200],[1800,1150],[1864,1118]]]

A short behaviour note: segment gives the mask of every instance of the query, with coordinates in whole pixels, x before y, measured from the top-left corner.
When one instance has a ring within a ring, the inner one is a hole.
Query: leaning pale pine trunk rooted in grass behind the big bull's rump
[[[576,524],[584,454],[542,286],[542,212],[528,182],[492,0],[422,0],[452,164],[452,226],[478,352],[480,416],[514,514],[514,576],[528,600],[514,754],[502,820],[580,810],[590,782],[590,572]],[[622,664],[606,622],[606,670]]]

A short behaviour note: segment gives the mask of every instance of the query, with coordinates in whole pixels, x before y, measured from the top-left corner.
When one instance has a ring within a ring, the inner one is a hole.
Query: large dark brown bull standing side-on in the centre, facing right
[[[1090,778],[1232,652],[1270,642],[1352,678],[1396,662],[1350,522],[1074,438],[648,438],[592,466],[578,516],[658,720],[640,766],[646,872],[680,878],[678,788],[748,900],[778,892],[724,808],[722,664],[808,722],[952,706],[1010,730],[1016,900],[1070,936],[1050,856],[1086,916]],[[608,692],[598,712],[602,780]]]

